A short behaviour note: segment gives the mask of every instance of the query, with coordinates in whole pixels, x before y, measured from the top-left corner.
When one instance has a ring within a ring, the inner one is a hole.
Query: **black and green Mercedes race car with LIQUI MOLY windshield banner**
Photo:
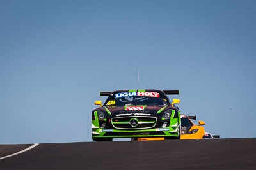
[[[113,138],[163,137],[180,139],[180,109],[167,95],[179,90],[116,90],[100,92],[108,96],[105,103],[95,101],[99,108],[92,111],[93,141]]]

